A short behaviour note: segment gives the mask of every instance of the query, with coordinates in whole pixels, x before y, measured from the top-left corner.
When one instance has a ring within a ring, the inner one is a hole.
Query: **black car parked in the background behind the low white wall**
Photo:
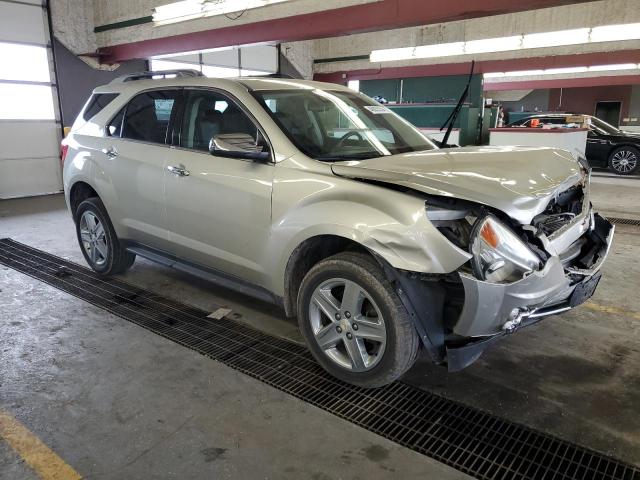
[[[567,113],[541,113],[521,118],[507,127],[530,127],[538,119],[540,126],[566,126]],[[640,134],[624,132],[597,117],[591,120],[587,134],[586,156],[592,167],[609,168],[619,175],[631,175],[640,169]]]

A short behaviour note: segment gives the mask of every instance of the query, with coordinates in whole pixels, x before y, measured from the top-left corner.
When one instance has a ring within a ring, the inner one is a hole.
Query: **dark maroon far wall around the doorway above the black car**
[[[610,85],[603,87],[563,88],[562,104],[560,89],[549,90],[549,111],[586,113],[593,115],[597,102],[622,102],[622,117],[629,116],[631,85]]]

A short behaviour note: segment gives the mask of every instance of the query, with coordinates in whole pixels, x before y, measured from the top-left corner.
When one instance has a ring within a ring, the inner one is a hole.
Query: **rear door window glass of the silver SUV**
[[[178,90],[154,90],[134,97],[125,109],[121,137],[166,143],[178,95]]]

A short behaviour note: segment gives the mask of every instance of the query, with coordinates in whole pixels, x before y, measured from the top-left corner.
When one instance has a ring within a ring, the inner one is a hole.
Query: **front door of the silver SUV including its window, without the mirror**
[[[216,90],[185,90],[183,111],[165,172],[172,251],[263,284],[274,166],[209,153],[212,139],[251,137],[255,148],[263,136],[239,105]]]

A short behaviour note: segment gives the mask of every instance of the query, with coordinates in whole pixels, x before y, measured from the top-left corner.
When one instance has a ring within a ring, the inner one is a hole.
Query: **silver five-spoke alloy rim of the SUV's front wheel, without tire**
[[[387,343],[384,318],[356,282],[332,278],[321,283],[311,296],[309,319],[318,346],[337,365],[365,372],[382,359]]]

